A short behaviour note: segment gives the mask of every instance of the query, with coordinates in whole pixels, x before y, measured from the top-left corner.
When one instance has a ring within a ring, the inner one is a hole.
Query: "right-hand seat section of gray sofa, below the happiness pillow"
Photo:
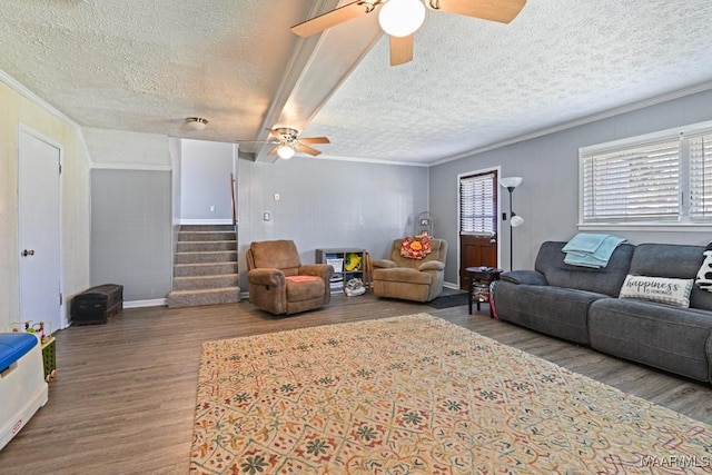
[[[589,329],[591,346],[600,352],[710,380],[706,346],[712,318],[708,311],[604,298],[591,305]]]

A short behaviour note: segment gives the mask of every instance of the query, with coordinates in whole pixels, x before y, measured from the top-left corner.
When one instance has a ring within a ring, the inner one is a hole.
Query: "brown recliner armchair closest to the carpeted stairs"
[[[253,243],[247,250],[249,301],[275,315],[312,310],[329,303],[326,264],[301,265],[291,240]]]

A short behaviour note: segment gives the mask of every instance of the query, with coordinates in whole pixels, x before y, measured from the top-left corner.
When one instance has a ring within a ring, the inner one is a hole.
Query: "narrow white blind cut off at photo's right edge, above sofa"
[[[712,217],[712,133],[691,137],[690,218]]]

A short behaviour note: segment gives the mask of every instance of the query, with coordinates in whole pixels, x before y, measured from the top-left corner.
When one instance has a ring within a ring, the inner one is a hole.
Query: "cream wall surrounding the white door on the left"
[[[0,330],[20,314],[18,128],[23,123],[61,145],[62,317],[89,287],[89,160],[79,127],[0,75]],[[56,328],[55,328],[56,329]]]

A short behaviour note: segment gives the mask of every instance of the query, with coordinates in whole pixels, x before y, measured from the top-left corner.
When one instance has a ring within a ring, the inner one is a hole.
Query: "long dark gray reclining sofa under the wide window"
[[[703,246],[622,244],[595,269],[565,264],[565,245],[544,243],[534,270],[502,275],[492,295],[497,318],[712,382],[712,293],[692,285],[689,307],[619,298],[629,275],[694,280]]]

